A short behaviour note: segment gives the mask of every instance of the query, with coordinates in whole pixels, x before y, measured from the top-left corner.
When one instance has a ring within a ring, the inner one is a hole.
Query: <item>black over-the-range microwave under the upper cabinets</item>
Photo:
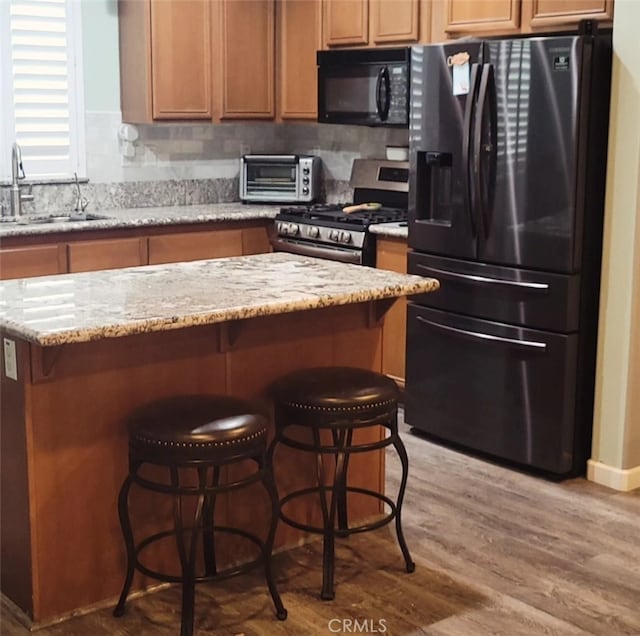
[[[318,121],[409,126],[411,49],[318,51]]]

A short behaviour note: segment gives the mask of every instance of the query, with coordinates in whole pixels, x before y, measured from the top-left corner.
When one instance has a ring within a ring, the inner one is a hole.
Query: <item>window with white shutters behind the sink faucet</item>
[[[0,178],[86,176],[80,0],[0,0]]]

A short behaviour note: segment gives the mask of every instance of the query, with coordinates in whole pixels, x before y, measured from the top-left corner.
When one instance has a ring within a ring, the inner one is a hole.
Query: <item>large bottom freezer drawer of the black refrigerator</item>
[[[578,337],[410,304],[405,420],[438,440],[545,473],[574,449]],[[434,414],[437,414],[435,416]]]

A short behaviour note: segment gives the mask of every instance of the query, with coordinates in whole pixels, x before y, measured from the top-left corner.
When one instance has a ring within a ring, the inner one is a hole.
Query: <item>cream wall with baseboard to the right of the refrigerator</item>
[[[640,2],[616,0],[589,478],[640,487]]]

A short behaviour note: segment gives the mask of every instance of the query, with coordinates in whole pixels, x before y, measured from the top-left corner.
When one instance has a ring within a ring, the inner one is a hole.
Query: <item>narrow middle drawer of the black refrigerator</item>
[[[578,330],[579,274],[551,274],[410,252],[408,271],[440,281],[418,304],[557,333]]]

